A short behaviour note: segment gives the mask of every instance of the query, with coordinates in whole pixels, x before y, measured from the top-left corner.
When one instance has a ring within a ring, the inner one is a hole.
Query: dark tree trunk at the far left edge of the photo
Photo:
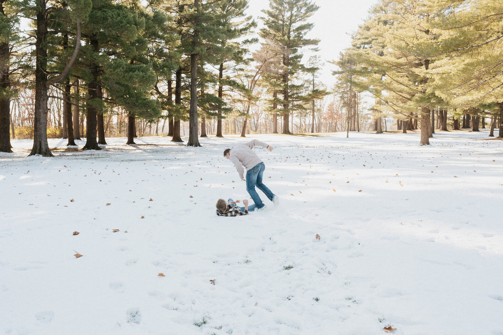
[[[4,2],[0,2],[0,13],[4,15]],[[12,152],[11,150],[11,98],[10,88],[11,81],[9,78],[10,71],[10,56],[9,41],[0,43],[0,152]],[[13,127],[13,138],[14,127]]]

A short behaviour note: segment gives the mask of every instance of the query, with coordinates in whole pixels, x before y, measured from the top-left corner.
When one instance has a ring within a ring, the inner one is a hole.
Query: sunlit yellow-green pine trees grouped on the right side
[[[503,2],[380,0],[333,63],[349,109],[370,94],[374,130],[392,115],[397,128],[499,128],[503,137]],[[351,126],[353,127],[353,126]]]

